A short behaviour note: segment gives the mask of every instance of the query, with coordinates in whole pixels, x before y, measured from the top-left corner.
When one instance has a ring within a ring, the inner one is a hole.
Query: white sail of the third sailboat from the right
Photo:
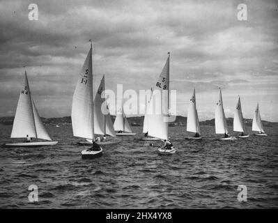
[[[228,128],[226,123],[226,117],[224,113],[223,108],[223,100],[222,100],[222,93],[220,89],[219,93],[219,100],[216,103],[216,109],[215,109],[215,133],[216,134],[228,134]]]

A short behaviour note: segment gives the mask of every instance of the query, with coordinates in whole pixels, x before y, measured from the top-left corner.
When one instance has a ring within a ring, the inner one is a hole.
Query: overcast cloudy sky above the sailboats
[[[38,21],[28,6],[38,5]],[[247,21],[237,6],[247,4]],[[0,1],[0,116],[13,116],[23,66],[41,116],[69,116],[92,39],[95,88],[149,89],[171,52],[170,88],[187,114],[192,90],[201,120],[213,118],[218,87],[226,116],[278,121],[277,1]],[[114,112],[111,112],[114,113]]]

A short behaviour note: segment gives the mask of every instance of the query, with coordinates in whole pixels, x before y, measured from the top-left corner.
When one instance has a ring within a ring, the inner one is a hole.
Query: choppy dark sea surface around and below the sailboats
[[[15,141],[11,128],[0,125],[1,144]],[[185,126],[170,127],[178,148],[171,156],[139,133],[103,147],[95,160],[82,160],[71,125],[47,130],[59,144],[0,148],[0,208],[278,208],[278,128],[217,141],[214,127],[201,125],[205,138],[187,141]],[[38,186],[38,202],[29,201],[29,185]],[[247,201],[238,201],[238,185],[247,187]]]

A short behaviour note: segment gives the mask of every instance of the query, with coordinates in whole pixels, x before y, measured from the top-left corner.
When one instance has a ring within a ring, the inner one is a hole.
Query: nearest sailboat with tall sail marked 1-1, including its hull
[[[92,43],[73,94],[71,117],[73,135],[93,140],[93,147],[81,152],[82,158],[100,157],[103,151],[101,146],[95,143],[94,131]]]

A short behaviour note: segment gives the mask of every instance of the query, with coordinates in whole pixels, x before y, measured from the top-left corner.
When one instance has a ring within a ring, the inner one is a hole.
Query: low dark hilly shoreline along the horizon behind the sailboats
[[[116,116],[111,116],[112,121],[115,120]],[[13,119],[14,116],[6,116],[6,117],[0,117],[0,124],[1,125],[13,125]],[[43,123],[47,125],[68,125],[71,124],[71,117],[70,116],[64,116],[60,118],[41,118]],[[143,126],[144,123],[144,116],[134,116],[129,117],[128,122],[132,126]],[[226,118],[227,125],[231,126],[233,125],[233,118]],[[252,119],[245,118],[244,119],[245,125],[252,126]],[[270,122],[270,121],[262,121],[263,126],[265,127],[272,127],[277,126],[278,123],[276,122]],[[169,126],[186,126],[187,123],[187,117],[184,116],[176,116],[176,120],[172,123],[169,123]],[[200,121],[200,125],[215,125],[215,118],[206,120],[206,121]]]

